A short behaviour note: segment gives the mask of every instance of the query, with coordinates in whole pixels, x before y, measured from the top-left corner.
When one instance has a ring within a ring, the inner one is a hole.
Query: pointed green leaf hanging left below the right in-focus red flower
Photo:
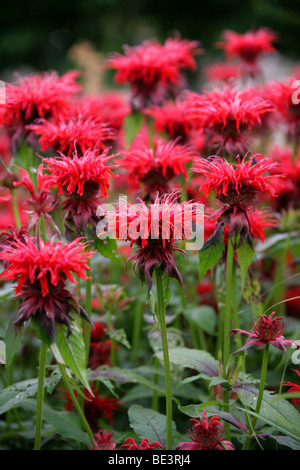
[[[199,279],[203,277],[221,258],[224,251],[223,227],[222,225],[216,232],[204,243],[199,251]]]

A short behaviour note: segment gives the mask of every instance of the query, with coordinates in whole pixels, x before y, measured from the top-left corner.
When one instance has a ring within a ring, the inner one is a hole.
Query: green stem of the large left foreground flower
[[[47,350],[48,350],[48,345],[44,341],[42,341],[41,349],[40,349],[40,359],[39,359],[39,378],[38,378],[38,391],[37,391],[34,450],[41,449],[42,412],[43,412],[43,402],[44,402],[44,381],[45,381],[45,375],[46,375]]]

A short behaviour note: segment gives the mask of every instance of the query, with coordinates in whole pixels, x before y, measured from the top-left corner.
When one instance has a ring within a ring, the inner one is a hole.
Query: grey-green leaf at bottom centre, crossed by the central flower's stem
[[[166,417],[157,411],[133,405],[128,410],[129,423],[135,434],[140,438],[146,438],[149,442],[159,442],[166,446]],[[176,435],[176,426],[172,421],[172,435]]]

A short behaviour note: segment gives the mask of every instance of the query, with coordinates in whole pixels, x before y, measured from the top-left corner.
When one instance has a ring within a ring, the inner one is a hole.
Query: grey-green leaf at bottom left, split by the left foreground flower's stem
[[[20,406],[30,415],[34,415],[36,412],[35,400],[27,399]],[[76,414],[69,411],[54,410],[47,403],[44,403],[43,421],[53,426],[62,437],[82,442],[88,447],[91,446],[87,434],[81,429],[81,424]]]

